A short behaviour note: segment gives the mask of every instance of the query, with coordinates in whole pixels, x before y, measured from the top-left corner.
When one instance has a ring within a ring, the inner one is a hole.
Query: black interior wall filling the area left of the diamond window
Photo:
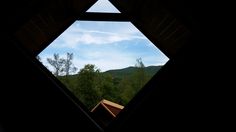
[[[0,131],[102,131],[35,59],[95,1],[14,2],[1,4]]]

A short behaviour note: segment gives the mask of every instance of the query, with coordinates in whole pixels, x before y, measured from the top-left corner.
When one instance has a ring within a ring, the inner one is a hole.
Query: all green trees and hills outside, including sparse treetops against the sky
[[[71,57],[68,57],[68,55],[71,55]],[[102,99],[126,105],[161,68],[161,66],[145,67],[140,58],[137,59],[134,67],[101,72],[95,65],[87,64],[77,74],[70,75],[70,72],[65,69],[75,69],[72,59],[73,54],[67,53],[67,59],[54,54],[54,59],[48,58],[47,60],[51,60],[48,62],[55,69],[54,75],[89,110]],[[66,62],[70,62],[69,65],[66,65]]]

